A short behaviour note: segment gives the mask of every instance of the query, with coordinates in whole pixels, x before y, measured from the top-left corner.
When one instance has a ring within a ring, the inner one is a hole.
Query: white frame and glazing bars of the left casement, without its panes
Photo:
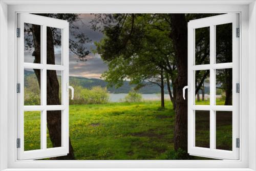
[[[41,31],[41,62],[24,62],[24,24],[40,26]],[[65,156],[69,153],[69,23],[66,20],[38,16],[33,14],[17,14],[17,27],[20,37],[17,38],[17,83],[20,93],[17,94],[17,159],[42,159]],[[47,27],[61,30],[61,65],[47,64]],[[24,70],[39,69],[41,75],[40,105],[24,105]],[[47,105],[47,70],[61,72],[61,104]],[[24,113],[40,111],[40,149],[24,151]],[[61,146],[47,148],[47,111],[61,111]]]

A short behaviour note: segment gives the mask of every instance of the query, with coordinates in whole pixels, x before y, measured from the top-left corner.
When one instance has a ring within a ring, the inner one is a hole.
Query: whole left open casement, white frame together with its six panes
[[[69,23],[39,15],[18,14],[18,160],[69,153],[68,82]],[[55,120],[51,120],[50,115],[55,115]],[[29,124],[33,126],[27,126]],[[54,126],[55,130],[52,129]],[[54,145],[50,134],[55,134],[55,137],[52,136]]]

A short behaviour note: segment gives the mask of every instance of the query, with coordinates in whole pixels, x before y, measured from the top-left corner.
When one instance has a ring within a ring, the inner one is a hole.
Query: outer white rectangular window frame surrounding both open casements
[[[24,5],[25,4],[25,5]],[[240,159],[234,160],[16,160],[16,13],[241,14]],[[8,32],[8,35],[6,33]],[[256,170],[256,5],[254,1],[14,1],[0,2],[0,169],[4,170]],[[248,36],[250,35],[250,36]],[[8,65],[6,65],[8,63]],[[7,72],[6,72],[7,71]],[[250,72],[249,72],[250,71]],[[6,100],[7,99],[7,100]],[[6,132],[8,130],[8,132]],[[248,150],[249,149],[249,150]],[[25,169],[26,168],[26,169]],[[48,168],[48,169],[47,169]],[[90,169],[91,168],[91,169]],[[94,169],[93,169],[94,168]]]

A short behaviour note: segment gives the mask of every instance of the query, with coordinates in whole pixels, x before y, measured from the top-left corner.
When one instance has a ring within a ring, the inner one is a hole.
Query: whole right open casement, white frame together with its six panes
[[[239,32],[239,14],[188,23],[190,155],[239,159]]]

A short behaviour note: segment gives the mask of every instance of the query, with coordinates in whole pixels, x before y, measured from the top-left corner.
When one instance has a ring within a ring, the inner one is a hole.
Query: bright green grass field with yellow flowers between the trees
[[[175,113],[159,101],[70,105],[70,138],[77,160],[177,159],[173,150]],[[207,143],[207,116],[200,118],[198,139]],[[230,118],[227,118],[228,120]],[[225,124],[226,123],[226,124]],[[220,124],[218,143],[228,146],[230,125]],[[225,134],[226,137],[222,138]],[[51,141],[48,137],[48,147]],[[40,112],[25,115],[25,149],[40,148]],[[182,159],[182,158],[180,158]],[[199,159],[199,158],[191,158]]]

